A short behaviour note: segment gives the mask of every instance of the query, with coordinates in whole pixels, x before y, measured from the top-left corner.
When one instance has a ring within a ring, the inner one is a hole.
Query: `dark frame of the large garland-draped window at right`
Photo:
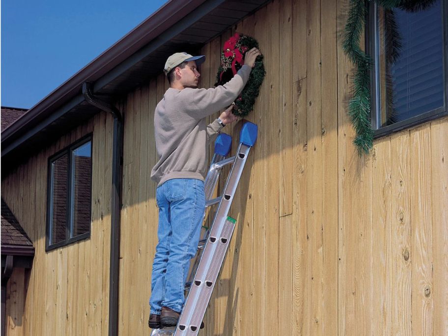
[[[374,130],[373,139],[384,137],[392,133],[412,128],[420,125],[426,121],[441,118],[448,115],[448,0],[441,0],[442,2],[442,29],[443,29],[443,69],[445,75],[445,101],[443,107],[437,108],[432,111],[424,112],[414,117],[401,120],[385,127],[380,126],[380,62],[379,62],[379,46],[380,36],[378,32],[378,4],[376,1],[370,1],[368,18],[366,20],[365,29],[365,49],[367,53],[372,56],[373,67],[370,72],[370,120]],[[371,38],[373,36],[373,38]]]

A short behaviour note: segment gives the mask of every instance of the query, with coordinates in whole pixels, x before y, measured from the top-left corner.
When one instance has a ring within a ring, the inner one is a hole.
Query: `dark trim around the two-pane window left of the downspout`
[[[88,232],[85,232],[83,234],[80,234],[78,236],[72,237],[70,238],[70,230],[71,230],[71,208],[70,208],[70,198],[71,198],[71,174],[72,174],[72,168],[71,168],[71,164],[72,164],[72,158],[71,158],[71,152],[74,148],[77,147],[81,147],[84,143],[87,143],[90,141],[90,153],[92,155],[92,161],[93,161],[93,133],[89,133],[87,135],[85,135],[84,137],[76,140],[75,142],[71,143],[70,145],[66,146],[65,148],[57,151],[54,155],[50,156],[48,158],[48,171],[47,171],[47,221],[46,221],[46,242],[45,242],[45,252],[49,252],[52,251],[54,249],[57,249],[59,247],[65,246],[65,245],[69,245],[71,243],[77,242],[79,240],[83,240],[83,239],[87,239],[90,238],[90,232],[92,229],[91,226],[91,220],[90,220],[90,229]],[[68,156],[68,169],[67,169],[67,174],[68,174],[68,178],[67,178],[67,226],[66,226],[66,233],[65,233],[65,240],[57,242],[55,244],[51,244],[50,245],[50,233],[51,233],[51,227],[50,227],[50,221],[51,221],[51,194],[52,194],[52,163],[54,161],[56,161],[57,159],[59,159],[60,157],[62,157],[63,155],[67,154]],[[93,166],[91,169],[91,181],[93,182]],[[91,204],[90,204],[91,207]],[[91,219],[91,209],[90,209],[90,219]]]

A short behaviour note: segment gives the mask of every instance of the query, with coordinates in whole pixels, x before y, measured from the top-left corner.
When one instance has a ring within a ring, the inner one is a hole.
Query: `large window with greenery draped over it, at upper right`
[[[366,31],[375,137],[447,114],[447,2],[409,1],[407,8],[385,10],[371,1]]]

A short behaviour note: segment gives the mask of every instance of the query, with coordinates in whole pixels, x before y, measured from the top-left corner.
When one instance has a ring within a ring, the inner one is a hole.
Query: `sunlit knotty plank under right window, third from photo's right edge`
[[[409,131],[392,136],[392,335],[411,335],[411,204]]]

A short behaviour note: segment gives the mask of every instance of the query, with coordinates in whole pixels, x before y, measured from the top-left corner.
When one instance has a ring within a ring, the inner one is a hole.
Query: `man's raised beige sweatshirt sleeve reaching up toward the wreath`
[[[203,118],[224,109],[234,102],[246,85],[252,68],[243,65],[233,78],[224,85],[209,89],[184,89],[188,95],[186,110],[196,118]]]

